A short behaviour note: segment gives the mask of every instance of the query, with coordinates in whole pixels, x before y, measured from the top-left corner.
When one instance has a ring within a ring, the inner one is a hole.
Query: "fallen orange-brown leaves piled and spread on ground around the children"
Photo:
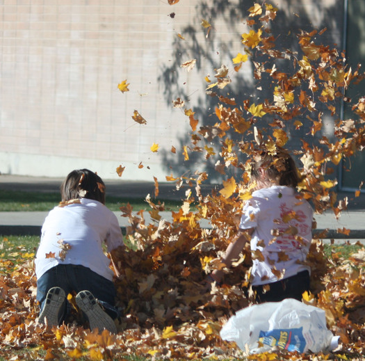
[[[13,360],[123,360],[129,355],[180,360],[245,358],[234,343],[220,339],[219,331],[229,316],[252,304],[247,287],[250,252],[243,252],[227,271],[222,286],[206,290],[206,272],[219,266],[218,256],[235,229],[234,224],[227,224],[233,200],[210,199],[216,203],[208,204],[215,214],[213,230],[200,229],[197,220],[202,209],[193,213],[186,205],[174,214],[174,222],[160,220],[150,225],[143,224],[141,211],[133,214],[124,209],[133,224],[127,239],[135,250],[120,256],[124,271],[116,285],[123,315],[117,335],[84,329],[76,310],[70,323],[60,328],[47,330],[39,325],[33,265],[26,262],[13,271],[9,267],[8,273],[0,275],[0,355],[9,359],[16,353]],[[150,213],[159,218],[158,209],[163,207],[150,204]],[[276,351],[252,359],[362,360],[364,261],[364,248],[349,259],[335,254],[330,260],[321,241],[314,240],[311,246],[313,294],[306,302],[325,310],[328,327],[341,337],[336,351],[319,355]]]

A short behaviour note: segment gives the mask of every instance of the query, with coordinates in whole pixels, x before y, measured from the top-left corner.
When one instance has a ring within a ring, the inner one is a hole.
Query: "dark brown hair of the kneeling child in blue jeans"
[[[105,184],[102,178],[88,169],[77,169],[67,175],[60,186],[63,202],[88,198],[105,204]]]

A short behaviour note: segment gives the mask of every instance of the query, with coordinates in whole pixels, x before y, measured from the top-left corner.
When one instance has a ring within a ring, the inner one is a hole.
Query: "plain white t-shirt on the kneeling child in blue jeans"
[[[117,217],[96,200],[81,198],[80,202],[55,207],[44,220],[35,256],[38,279],[58,264],[78,264],[113,280],[102,243],[108,252],[123,245]]]

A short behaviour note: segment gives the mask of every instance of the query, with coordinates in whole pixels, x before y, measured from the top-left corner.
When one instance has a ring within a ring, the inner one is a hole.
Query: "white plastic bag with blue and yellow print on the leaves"
[[[333,350],[339,340],[327,329],[324,310],[293,298],[238,311],[220,330],[220,337],[248,353],[273,348],[317,353]]]

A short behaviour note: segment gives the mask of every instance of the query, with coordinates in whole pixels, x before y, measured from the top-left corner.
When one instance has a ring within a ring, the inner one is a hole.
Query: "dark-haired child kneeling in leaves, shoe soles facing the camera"
[[[76,294],[76,304],[92,330],[117,332],[116,292],[109,264],[124,243],[117,217],[105,207],[104,182],[88,169],[73,170],[60,193],[62,202],[44,220],[35,256],[38,321],[59,326],[70,311],[67,294]],[[104,254],[104,241],[111,261]]]

